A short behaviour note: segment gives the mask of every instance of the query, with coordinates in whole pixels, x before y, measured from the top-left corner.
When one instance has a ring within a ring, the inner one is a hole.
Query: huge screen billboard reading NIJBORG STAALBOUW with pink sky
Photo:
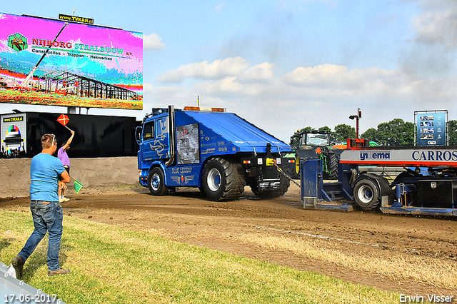
[[[0,103],[143,109],[143,34],[0,13]]]

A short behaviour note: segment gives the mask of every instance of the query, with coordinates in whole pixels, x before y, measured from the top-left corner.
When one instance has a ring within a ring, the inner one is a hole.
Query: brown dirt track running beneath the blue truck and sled
[[[73,193],[63,203],[64,214],[149,230],[179,242],[203,245],[237,255],[312,270],[353,283],[396,290],[407,295],[454,295],[455,290],[420,280],[389,278],[375,271],[361,272],[341,263],[331,263],[274,245],[248,239],[312,242],[322,250],[347,256],[386,257],[403,260],[429,258],[457,266],[457,221],[455,218],[388,216],[382,213],[306,211],[298,188],[291,185],[281,198],[261,200],[246,188],[238,201],[211,202],[192,188],[170,196],[154,197],[146,188],[93,188]],[[0,208],[21,209],[28,198],[0,198]],[[452,264],[453,263],[453,264]]]

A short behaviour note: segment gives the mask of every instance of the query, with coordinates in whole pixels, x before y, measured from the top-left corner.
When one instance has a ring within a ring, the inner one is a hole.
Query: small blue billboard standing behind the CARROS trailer
[[[416,111],[417,146],[446,146],[447,111]]]

